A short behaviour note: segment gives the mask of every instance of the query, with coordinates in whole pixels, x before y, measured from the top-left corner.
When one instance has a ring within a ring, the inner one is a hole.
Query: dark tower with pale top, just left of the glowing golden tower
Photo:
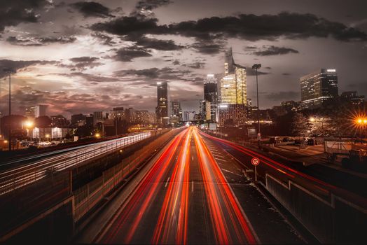
[[[218,114],[218,84],[214,74],[207,74],[207,79],[204,81],[204,99],[206,108],[205,113],[202,113],[203,119],[216,122]]]

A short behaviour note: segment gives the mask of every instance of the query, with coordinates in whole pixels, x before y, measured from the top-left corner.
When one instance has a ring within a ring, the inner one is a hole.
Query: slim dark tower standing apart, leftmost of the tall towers
[[[157,114],[158,125],[165,127],[168,124],[168,84],[167,82],[157,83]]]

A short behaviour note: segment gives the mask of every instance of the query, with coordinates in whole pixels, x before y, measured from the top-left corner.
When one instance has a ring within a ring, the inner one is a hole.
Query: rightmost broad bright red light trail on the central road
[[[194,131],[193,135],[199,155],[200,172],[205,183],[205,192],[216,242],[218,244],[256,244],[255,232],[250,227],[249,221],[240,204],[238,204],[221,169],[219,169],[197,130]],[[219,184],[215,185],[214,183]],[[229,221],[226,217],[229,218]],[[230,228],[235,231],[235,237],[230,236]]]

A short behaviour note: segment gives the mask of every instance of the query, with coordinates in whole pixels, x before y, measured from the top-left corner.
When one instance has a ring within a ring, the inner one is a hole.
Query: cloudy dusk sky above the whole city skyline
[[[223,73],[233,48],[259,70],[260,108],[300,100],[299,78],[338,72],[339,93],[367,95],[367,1],[341,0],[0,0],[0,111],[48,104],[48,114],[154,111],[156,83],[198,111],[207,73]],[[253,103],[254,104],[254,103]]]

